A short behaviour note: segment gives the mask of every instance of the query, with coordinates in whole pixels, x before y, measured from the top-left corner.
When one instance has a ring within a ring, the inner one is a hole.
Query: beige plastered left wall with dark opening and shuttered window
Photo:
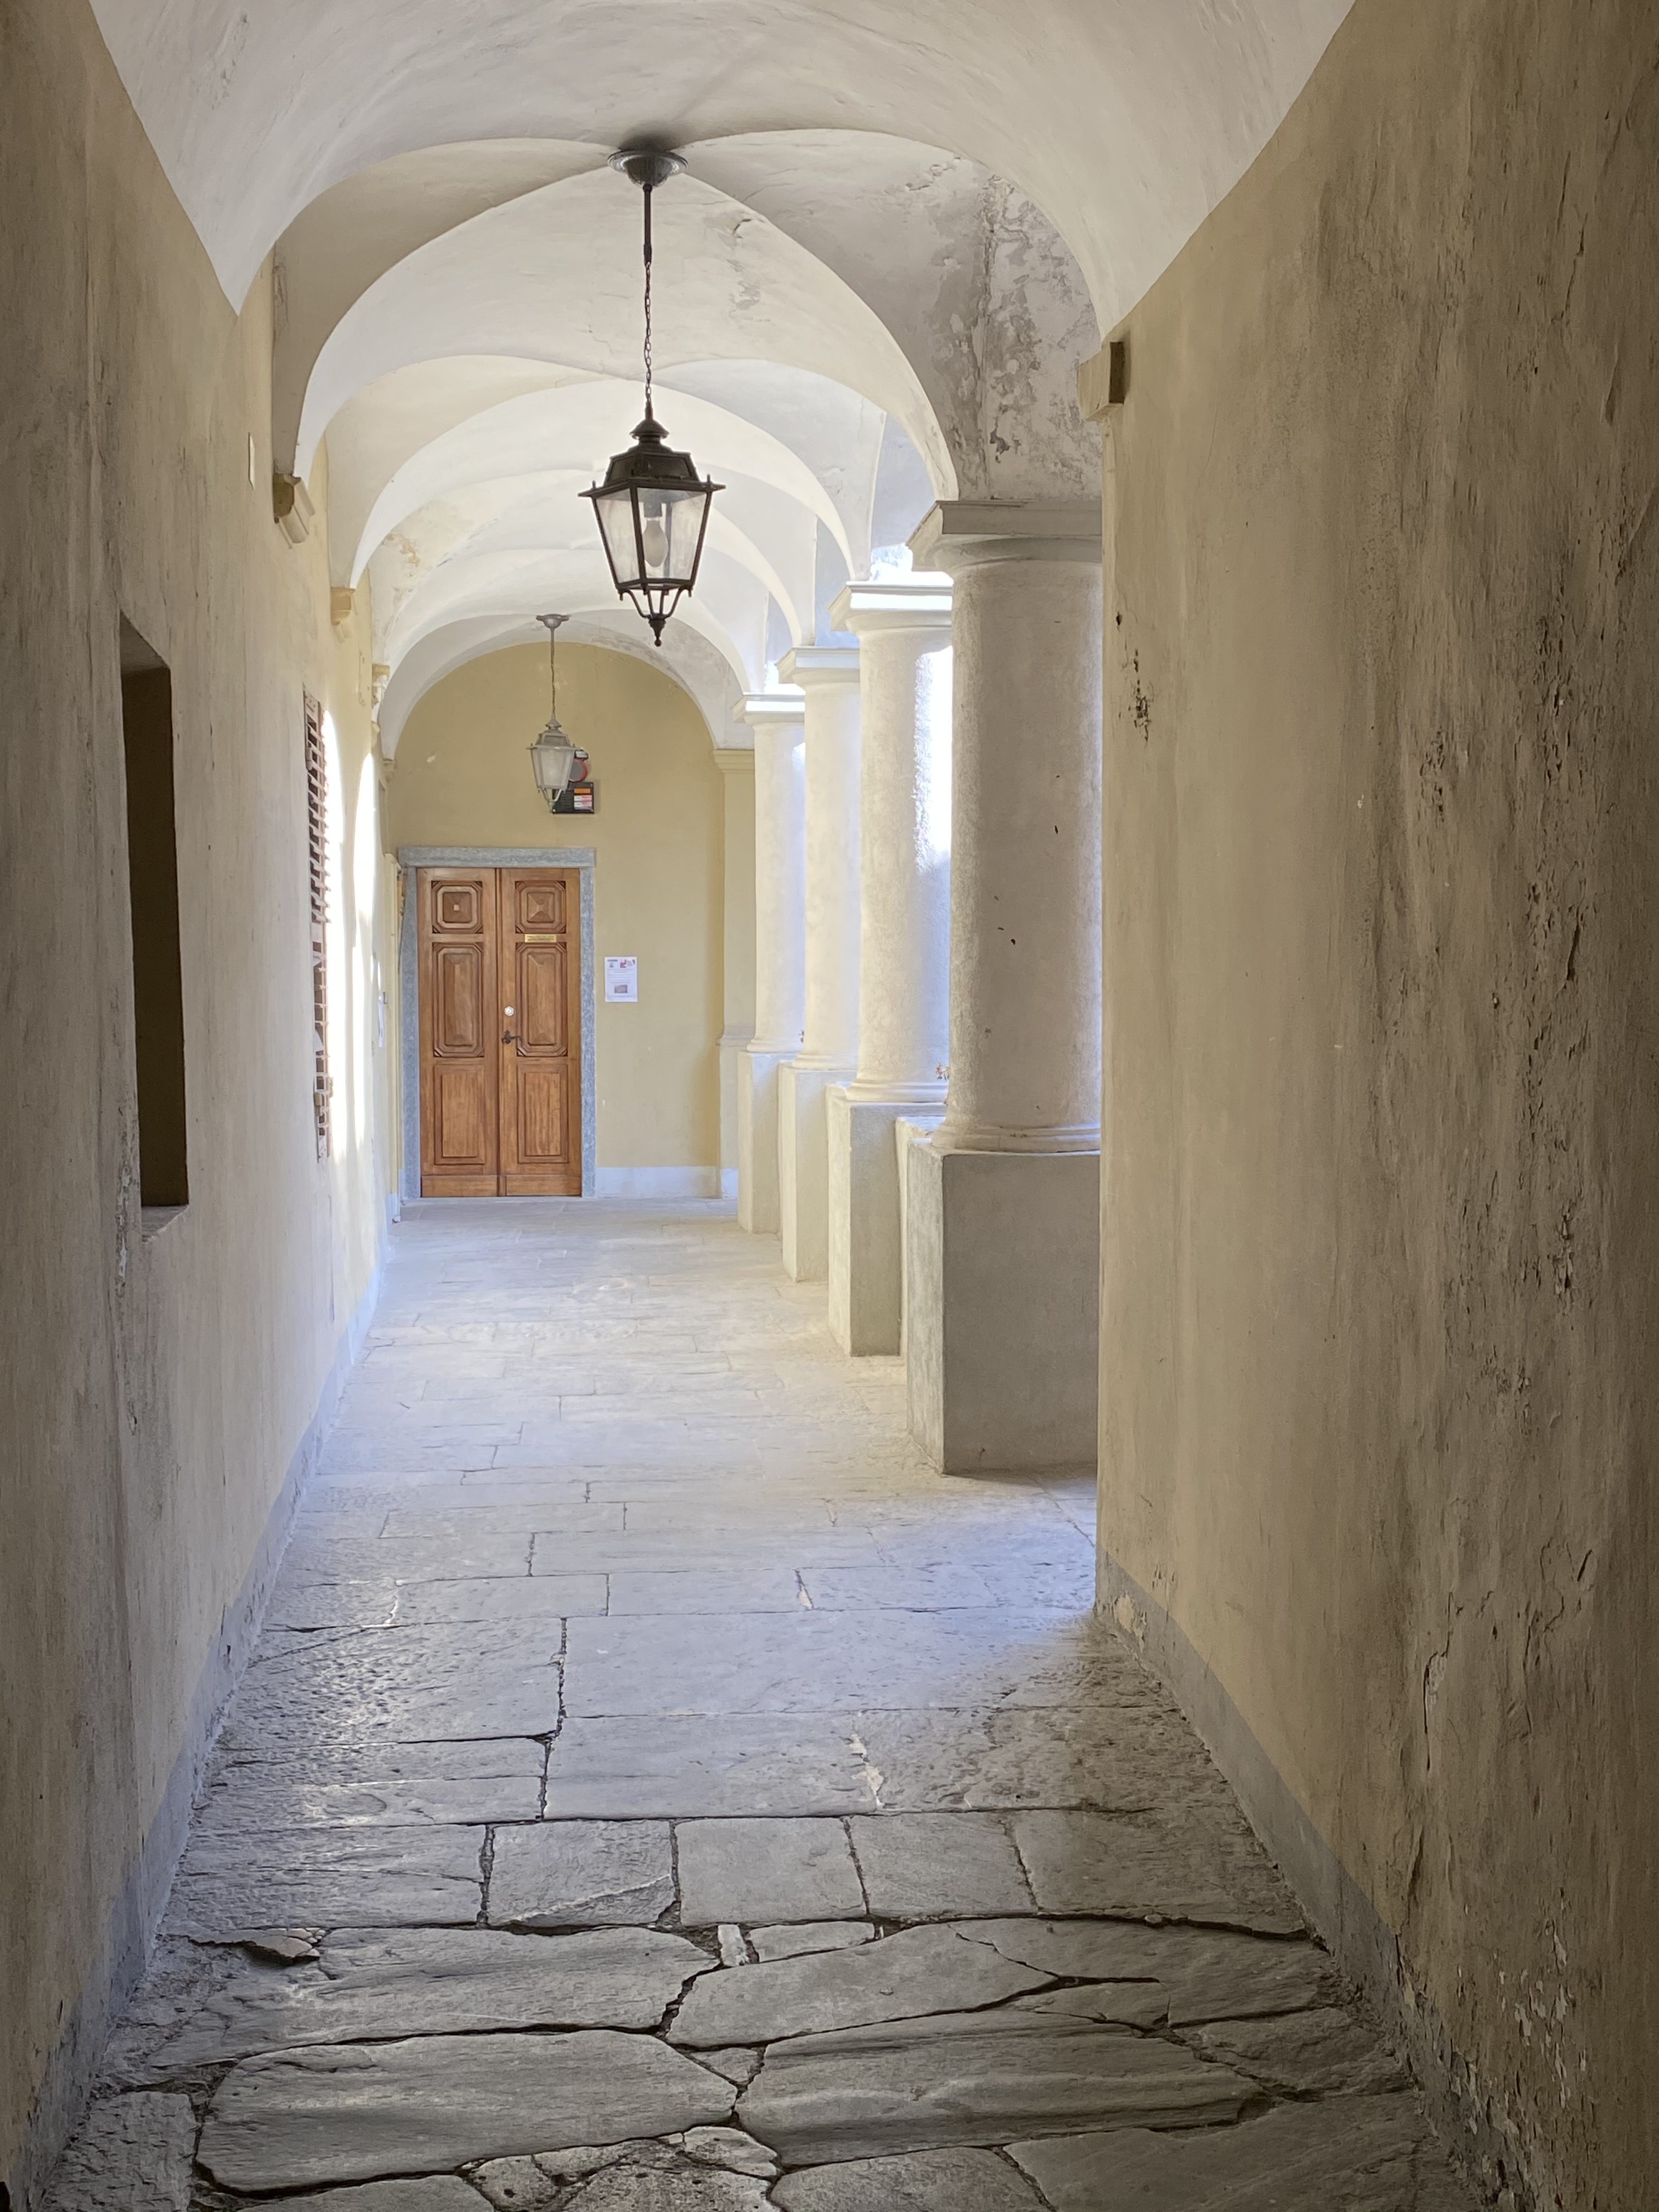
[[[392,942],[361,639],[330,624],[325,546],[272,524],[270,281],[226,303],[84,0],[0,9],[0,2181],[24,2205],[142,1960],[374,1281]],[[175,710],[190,1206],[153,1237],[122,613]],[[334,765],[327,1164],[305,688]]]

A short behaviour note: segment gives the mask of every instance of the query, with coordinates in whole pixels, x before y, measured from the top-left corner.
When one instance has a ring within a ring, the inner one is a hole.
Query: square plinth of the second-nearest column
[[[825,1093],[830,1157],[830,1334],[843,1352],[896,1354],[905,1312],[905,1237],[896,1128],[914,1099]]]

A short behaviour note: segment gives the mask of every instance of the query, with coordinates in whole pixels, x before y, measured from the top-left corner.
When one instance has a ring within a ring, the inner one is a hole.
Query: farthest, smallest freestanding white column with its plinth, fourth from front
[[[801,692],[750,692],[754,732],[754,1035],[737,1071],[737,1219],[779,1228],[779,1068],[805,1009],[805,761]]]

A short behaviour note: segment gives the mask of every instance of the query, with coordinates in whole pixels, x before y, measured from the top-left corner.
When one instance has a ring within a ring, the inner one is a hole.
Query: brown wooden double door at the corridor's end
[[[420,1194],[582,1194],[573,867],[422,867]]]

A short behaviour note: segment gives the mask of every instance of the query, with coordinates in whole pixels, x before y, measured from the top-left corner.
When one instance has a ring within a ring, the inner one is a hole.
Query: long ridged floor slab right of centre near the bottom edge
[[[739,2121],[785,2166],[816,2166],[1082,2128],[1201,2128],[1237,2119],[1252,2095],[1157,2037],[995,2011],[776,2044]]]

